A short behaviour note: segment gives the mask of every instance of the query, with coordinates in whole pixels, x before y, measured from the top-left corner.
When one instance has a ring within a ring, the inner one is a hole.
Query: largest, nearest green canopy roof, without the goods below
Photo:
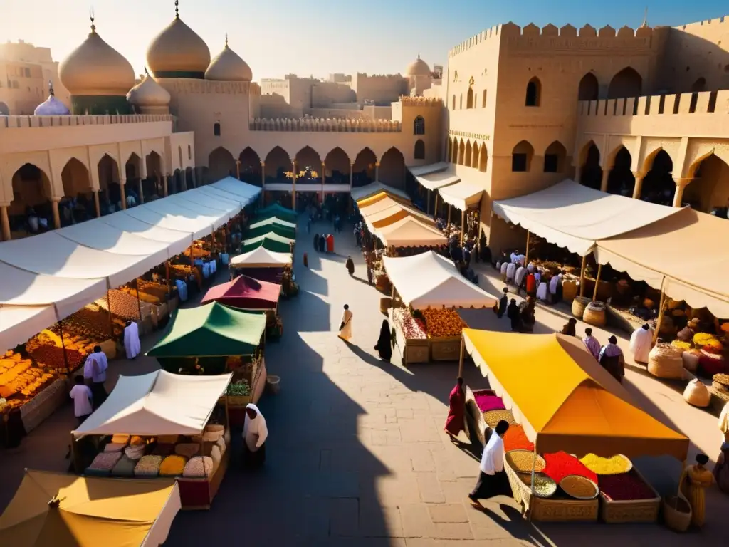
[[[265,314],[240,311],[217,302],[197,308],[177,309],[167,333],[147,355],[252,355],[261,342],[265,326]]]

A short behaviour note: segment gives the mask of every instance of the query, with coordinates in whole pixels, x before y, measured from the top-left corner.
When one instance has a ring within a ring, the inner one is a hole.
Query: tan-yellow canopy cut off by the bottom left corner
[[[0,516],[5,545],[158,547],[177,511],[174,479],[121,481],[26,470]]]

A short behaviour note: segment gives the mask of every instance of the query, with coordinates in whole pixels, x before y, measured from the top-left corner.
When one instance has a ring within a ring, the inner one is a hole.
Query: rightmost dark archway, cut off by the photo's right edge
[[[728,218],[729,165],[715,154],[696,163],[689,171],[693,181],[685,188],[683,201],[697,211]]]

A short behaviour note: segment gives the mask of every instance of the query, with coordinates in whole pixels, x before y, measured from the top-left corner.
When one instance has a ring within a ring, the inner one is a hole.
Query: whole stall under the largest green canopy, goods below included
[[[239,407],[258,402],[265,387],[265,326],[264,313],[241,311],[217,302],[179,309],[173,314],[168,331],[147,355],[157,357],[165,371],[172,373],[233,371],[238,395],[235,401],[228,401],[228,406],[240,413]],[[241,399],[243,395],[247,400]]]

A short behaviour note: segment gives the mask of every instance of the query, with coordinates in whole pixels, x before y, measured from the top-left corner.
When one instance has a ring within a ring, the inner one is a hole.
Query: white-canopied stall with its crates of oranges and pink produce
[[[458,359],[461,330],[468,325],[456,308],[491,309],[496,298],[461,276],[451,260],[435,252],[382,260],[393,295],[397,294],[404,306],[390,312],[404,362]],[[410,349],[424,346],[422,332],[427,353]]]

